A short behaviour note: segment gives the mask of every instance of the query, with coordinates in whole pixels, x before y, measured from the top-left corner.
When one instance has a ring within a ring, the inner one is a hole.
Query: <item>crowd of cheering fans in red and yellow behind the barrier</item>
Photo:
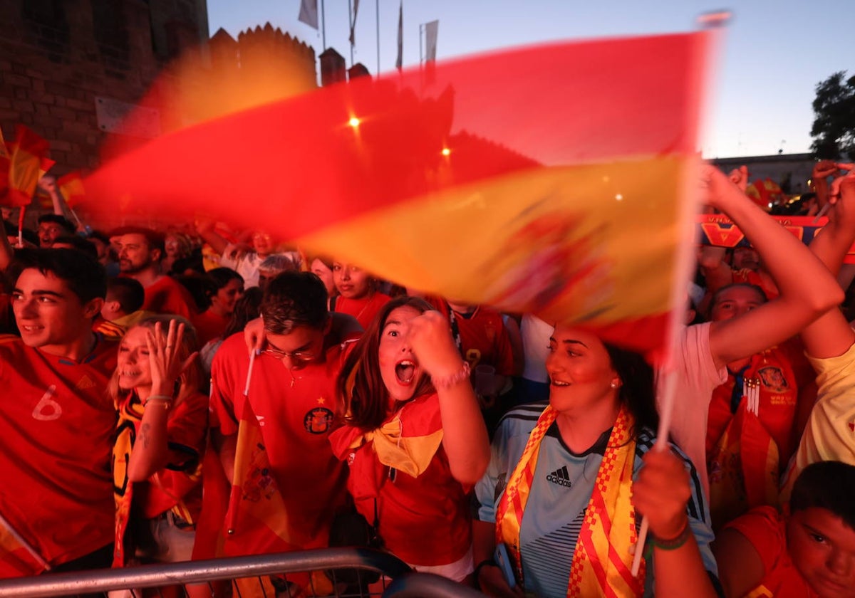
[[[494,596],[855,596],[855,170],[815,175],[806,246],[704,168],[751,245],[699,248],[668,362],[263,230],[79,230],[44,177],[0,243],[0,577],[358,543]]]

